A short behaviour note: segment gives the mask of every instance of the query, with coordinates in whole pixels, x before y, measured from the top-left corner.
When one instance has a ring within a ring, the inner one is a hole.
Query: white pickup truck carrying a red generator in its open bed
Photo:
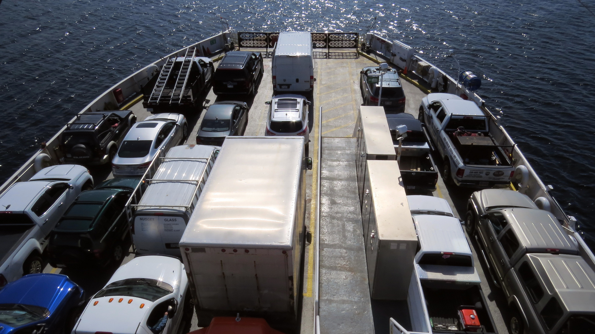
[[[460,220],[443,198],[407,201],[419,238],[407,297],[412,331],[497,333]]]

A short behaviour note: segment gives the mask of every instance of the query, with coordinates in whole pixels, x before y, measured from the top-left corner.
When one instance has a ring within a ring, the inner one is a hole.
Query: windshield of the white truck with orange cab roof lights
[[[174,288],[168,283],[149,278],[129,278],[110,283],[93,298],[128,296],[156,301],[171,292],[174,292]]]

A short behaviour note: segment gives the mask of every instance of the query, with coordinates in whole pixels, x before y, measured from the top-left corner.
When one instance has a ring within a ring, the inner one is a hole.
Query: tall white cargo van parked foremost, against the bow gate
[[[306,32],[280,33],[273,51],[273,92],[312,92],[314,59],[312,36]]]

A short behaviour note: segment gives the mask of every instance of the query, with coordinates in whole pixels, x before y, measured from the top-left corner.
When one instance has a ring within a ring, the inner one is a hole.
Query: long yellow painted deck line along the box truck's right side
[[[317,76],[320,77],[320,67],[317,67]],[[316,89],[316,96],[317,96],[317,104],[314,105],[314,119],[318,119],[316,109],[320,108],[320,86],[317,86]],[[320,109],[319,109],[320,110]],[[316,234],[316,184],[317,184],[317,177],[318,177],[318,168],[321,168],[320,161],[318,161],[318,150],[321,147],[318,147],[318,133],[320,133],[321,124],[318,124],[318,127],[314,127],[314,149],[312,150],[312,201],[310,201],[310,232],[312,234],[312,240],[317,240]],[[316,242],[316,241],[314,241]],[[310,244],[308,246],[308,273],[306,274],[306,293],[303,294],[303,297],[312,297],[312,282],[314,281],[314,244]],[[320,254],[318,254],[320,256]]]

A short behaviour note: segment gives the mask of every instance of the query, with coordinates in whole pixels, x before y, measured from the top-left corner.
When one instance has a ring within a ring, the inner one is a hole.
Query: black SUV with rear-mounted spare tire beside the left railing
[[[129,110],[85,112],[66,125],[60,150],[66,163],[103,165],[111,162],[136,116]]]

